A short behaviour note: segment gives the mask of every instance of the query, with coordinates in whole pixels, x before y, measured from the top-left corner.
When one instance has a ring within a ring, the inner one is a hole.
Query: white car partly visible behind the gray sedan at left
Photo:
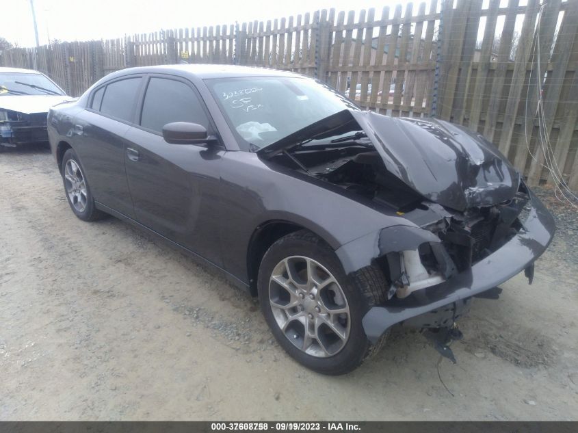
[[[71,100],[54,81],[36,70],[0,68],[0,151],[48,142],[49,108]]]

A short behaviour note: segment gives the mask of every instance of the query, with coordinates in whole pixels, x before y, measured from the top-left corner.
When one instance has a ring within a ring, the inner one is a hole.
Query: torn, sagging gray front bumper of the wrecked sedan
[[[468,270],[445,282],[415,291],[404,299],[392,298],[374,306],[363,317],[363,328],[376,342],[395,324],[420,328],[451,326],[467,312],[470,300],[478,293],[500,285],[522,270],[533,272],[534,261],[546,250],[555,231],[554,220],[542,202],[529,194],[529,215],[512,239]],[[400,248],[401,249],[401,248]]]

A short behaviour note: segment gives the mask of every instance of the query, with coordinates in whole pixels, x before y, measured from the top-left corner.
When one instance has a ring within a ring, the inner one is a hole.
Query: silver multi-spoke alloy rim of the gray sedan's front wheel
[[[337,354],[350,335],[350,309],[337,279],[321,263],[286,257],[269,282],[273,315],[295,347],[317,358]]]

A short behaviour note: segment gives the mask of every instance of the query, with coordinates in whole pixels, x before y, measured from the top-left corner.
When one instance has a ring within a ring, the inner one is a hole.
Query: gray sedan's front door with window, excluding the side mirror
[[[168,144],[162,136],[163,126],[169,122],[202,124],[214,134],[205,104],[189,81],[151,75],[139,114],[138,125],[125,135],[135,219],[222,265],[218,224],[224,148],[217,144]]]

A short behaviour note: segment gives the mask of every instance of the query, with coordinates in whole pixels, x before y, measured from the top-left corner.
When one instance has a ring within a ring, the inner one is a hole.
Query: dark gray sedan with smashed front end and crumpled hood
[[[154,66],[49,113],[66,197],[121,218],[259,297],[302,365],[352,371],[396,324],[449,330],[525,271],[551,214],[484,137],[362,111],[280,71]]]

